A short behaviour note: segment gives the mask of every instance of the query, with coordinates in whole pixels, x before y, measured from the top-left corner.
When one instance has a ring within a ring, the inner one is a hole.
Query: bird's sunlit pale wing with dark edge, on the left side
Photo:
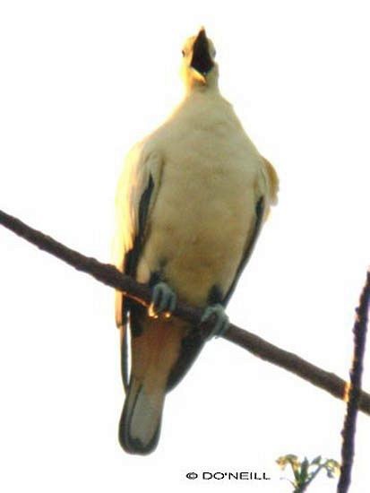
[[[162,160],[156,151],[148,151],[144,143],[136,144],[128,153],[116,194],[116,237],[114,263],[127,275],[135,277],[148,218],[160,186]],[[127,369],[127,313],[129,299],[116,291],[116,325],[121,329],[122,375],[125,387]]]

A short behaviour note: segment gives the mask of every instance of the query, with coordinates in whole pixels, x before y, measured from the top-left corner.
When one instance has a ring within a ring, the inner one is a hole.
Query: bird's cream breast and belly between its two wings
[[[261,157],[223,99],[181,108],[169,123],[152,143],[164,163],[138,277],[162,269],[180,298],[202,306],[213,285],[226,294],[242,259]]]

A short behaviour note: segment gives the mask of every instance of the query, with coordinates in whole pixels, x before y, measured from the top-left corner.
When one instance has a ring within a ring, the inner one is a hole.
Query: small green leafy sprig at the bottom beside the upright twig
[[[333,478],[336,474],[340,473],[340,463],[337,463],[333,459],[323,459],[321,455],[315,457],[311,462],[305,457],[301,462],[297,455],[288,454],[282,455],[276,462],[282,470],[287,465],[290,465],[294,474],[294,480],[286,479],[294,487],[293,493],[302,493],[305,491],[322,470],[326,471],[328,478]]]

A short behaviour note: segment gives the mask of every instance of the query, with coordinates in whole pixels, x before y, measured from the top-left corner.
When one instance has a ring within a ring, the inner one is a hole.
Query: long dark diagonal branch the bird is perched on
[[[103,282],[125,293],[125,296],[133,298],[136,301],[148,306],[151,302],[151,290],[143,284],[134,281],[131,277],[119,272],[111,264],[101,264],[95,258],[85,255],[65,247],[62,243],[50,238],[36,229],[30,228],[22,221],[0,211],[0,224],[5,228],[11,229],[13,233],[27,239],[33,245],[51,255],[55,255],[60,260],[72,265],[75,269],[89,273],[97,281]],[[202,310],[200,308],[190,307],[184,303],[178,304],[174,312],[175,316],[194,324],[200,324]],[[209,333],[211,326],[204,327],[204,336]],[[344,399],[347,384],[339,376],[334,375],[322,368],[315,367],[312,363],[299,358],[296,354],[282,350],[270,342],[264,341],[254,333],[241,329],[234,324],[230,324],[228,332],[222,336],[229,342],[235,342],[245,350],[252,352],[265,361],[284,368],[291,373],[305,379],[317,387],[326,390],[334,397],[340,400]],[[357,403],[358,410],[370,415],[370,394],[361,391]]]

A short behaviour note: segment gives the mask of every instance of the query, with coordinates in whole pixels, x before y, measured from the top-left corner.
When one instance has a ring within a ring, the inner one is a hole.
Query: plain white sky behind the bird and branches
[[[370,264],[368,19],[357,1],[2,2],[0,207],[108,262],[125,152],[181,98],[181,44],[204,24],[221,91],[280,175],[228,314],[347,377]],[[113,291],[1,228],[0,272],[3,491],[283,493],[279,455],[340,459],[344,405],[222,340],[168,395],[155,453],[125,454]],[[353,493],[369,453],[359,415]],[[334,490],[323,477],[310,492]]]

